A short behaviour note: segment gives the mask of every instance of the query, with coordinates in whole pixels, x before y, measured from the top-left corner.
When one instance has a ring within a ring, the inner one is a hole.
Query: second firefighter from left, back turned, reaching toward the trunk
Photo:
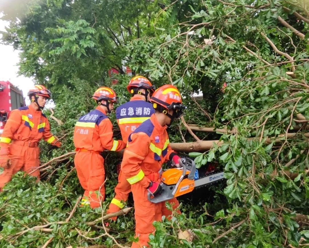
[[[112,123],[107,117],[117,102],[115,92],[108,87],[100,87],[92,98],[98,107],[76,122],[73,141],[77,151],[74,164],[79,182],[85,190],[82,205],[96,208],[101,206],[105,197],[104,159],[100,152],[119,151],[125,147],[125,143],[113,139]]]

